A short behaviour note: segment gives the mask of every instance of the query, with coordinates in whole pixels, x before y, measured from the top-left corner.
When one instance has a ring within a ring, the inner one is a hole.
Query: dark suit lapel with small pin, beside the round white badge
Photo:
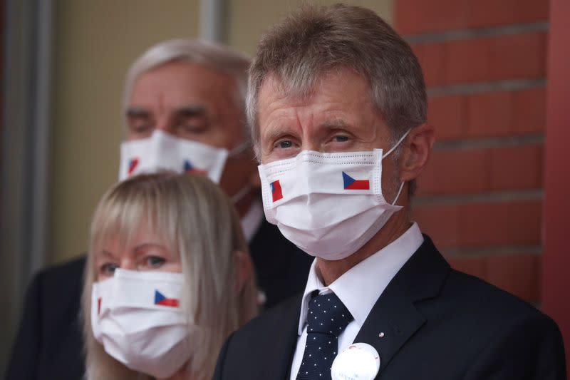
[[[450,266],[429,237],[400,269],[378,298],[354,342],[367,343],[380,354],[380,371],[425,323],[414,303],[436,297]]]

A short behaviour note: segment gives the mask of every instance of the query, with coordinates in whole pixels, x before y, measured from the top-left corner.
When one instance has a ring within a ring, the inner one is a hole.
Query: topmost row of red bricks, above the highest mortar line
[[[525,24],[549,19],[546,0],[398,0],[395,28],[402,34]]]

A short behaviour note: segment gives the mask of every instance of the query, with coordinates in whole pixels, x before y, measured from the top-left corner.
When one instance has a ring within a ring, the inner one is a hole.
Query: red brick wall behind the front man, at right
[[[540,302],[546,0],[396,0],[437,143],[415,220],[457,269]]]

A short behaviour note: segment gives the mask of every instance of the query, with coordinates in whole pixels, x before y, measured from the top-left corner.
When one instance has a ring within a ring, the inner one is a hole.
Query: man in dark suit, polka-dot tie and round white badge
[[[214,379],[566,379],[556,324],[451,269],[410,220],[434,129],[403,38],[368,9],[304,7],[249,74],[266,218],[316,260],[302,294],[227,339]]]

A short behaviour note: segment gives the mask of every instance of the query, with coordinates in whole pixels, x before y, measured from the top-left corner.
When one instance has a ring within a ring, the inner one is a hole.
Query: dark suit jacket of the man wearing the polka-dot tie
[[[289,380],[300,307],[295,297],[232,334],[214,380]],[[451,269],[429,237],[380,295],[354,342],[380,354],[376,379],[566,380],[556,324]]]

